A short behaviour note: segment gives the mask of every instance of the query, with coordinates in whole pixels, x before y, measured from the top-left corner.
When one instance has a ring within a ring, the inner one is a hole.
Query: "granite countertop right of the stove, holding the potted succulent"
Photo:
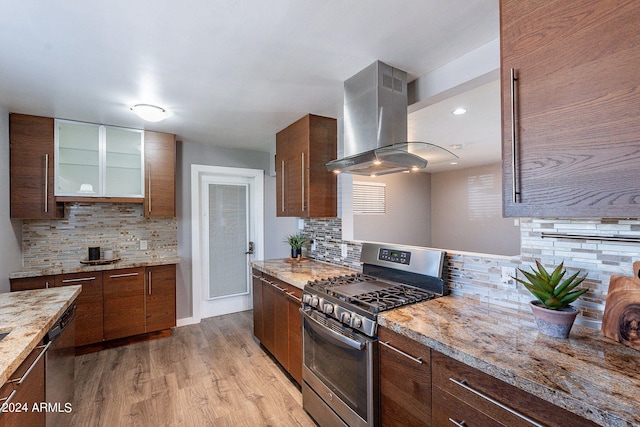
[[[574,325],[540,334],[529,310],[449,295],[379,324],[603,426],[640,427],[640,352]]]

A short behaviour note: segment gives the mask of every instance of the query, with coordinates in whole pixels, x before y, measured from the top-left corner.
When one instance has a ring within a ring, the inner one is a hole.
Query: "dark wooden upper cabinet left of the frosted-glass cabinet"
[[[9,115],[11,218],[62,218],[54,197],[54,121]]]

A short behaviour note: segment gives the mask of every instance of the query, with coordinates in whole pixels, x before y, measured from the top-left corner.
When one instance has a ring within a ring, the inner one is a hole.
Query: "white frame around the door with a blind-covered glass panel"
[[[249,178],[249,203],[251,227],[254,230],[255,249],[248,260],[264,259],[264,171],[262,169],[233,168],[226,166],[191,165],[191,310],[194,323],[202,319],[200,301],[207,278],[204,277],[202,241],[203,229],[201,215],[202,208],[202,179],[204,177],[240,176]],[[251,286],[249,286],[251,289]]]

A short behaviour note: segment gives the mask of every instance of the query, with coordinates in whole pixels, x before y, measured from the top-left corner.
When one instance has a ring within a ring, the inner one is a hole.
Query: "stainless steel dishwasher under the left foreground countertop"
[[[60,316],[44,338],[46,425],[70,425],[74,405],[76,303]]]

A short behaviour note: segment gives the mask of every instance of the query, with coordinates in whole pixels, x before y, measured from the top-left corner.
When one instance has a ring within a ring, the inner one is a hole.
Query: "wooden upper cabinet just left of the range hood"
[[[337,154],[337,122],[308,114],[276,134],[277,216],[337,215],[337,177],[325,163]]]

